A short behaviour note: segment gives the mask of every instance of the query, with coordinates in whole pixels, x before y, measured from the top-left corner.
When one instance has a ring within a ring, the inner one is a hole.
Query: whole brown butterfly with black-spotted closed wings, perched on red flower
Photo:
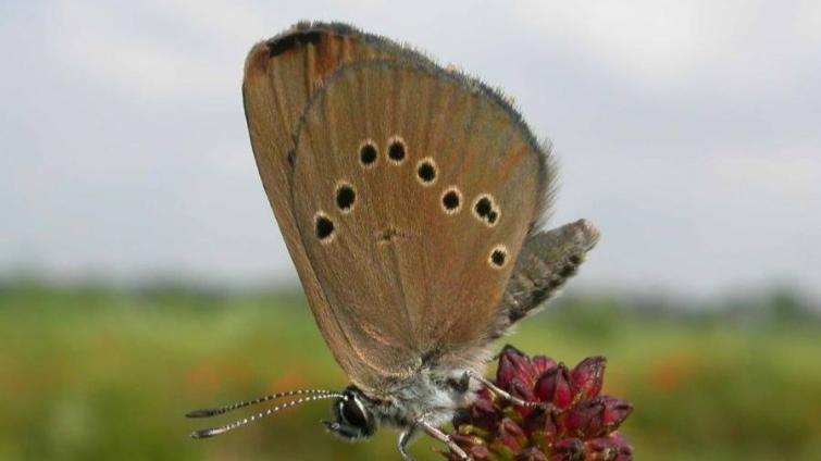
[[[540,224],[550,148],[511,101],[413,49],[339,23],[299,23],[254,46],[242,97],[253,154],[328,349],[351,384],[198,431],[210,437],[302,402],[333,399],[328,432],[378,427],[409,444],[441,429],[482,386],[494,340],[573,276],[599,233]]]

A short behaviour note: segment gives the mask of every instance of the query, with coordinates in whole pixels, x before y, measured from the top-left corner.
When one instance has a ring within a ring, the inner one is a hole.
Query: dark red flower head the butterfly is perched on
[[[602,357],[592,357],[570,371],[547,357],[531,359],[506,347],[495,384],[542,406],[519,407],[483,387],[453,419],[453,441],[476,461],[632,461],[633,449],[614,431],[633,407],[599,396],[605,364]]]

